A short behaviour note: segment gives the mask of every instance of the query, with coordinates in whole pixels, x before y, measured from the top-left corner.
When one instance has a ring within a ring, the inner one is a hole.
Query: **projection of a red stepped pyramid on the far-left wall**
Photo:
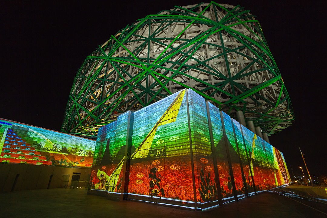
[[[91,167],[95,141],[0,120],[0,163]]]

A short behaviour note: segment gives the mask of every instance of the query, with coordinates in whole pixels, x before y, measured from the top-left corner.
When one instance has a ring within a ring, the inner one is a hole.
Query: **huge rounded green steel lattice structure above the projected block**
[[[255,17],[211,2],[163,10],[128,25],[79,68],[61,130],[95,137],[127,110],[191,88],[268,135],[291,125],[283,79]]]

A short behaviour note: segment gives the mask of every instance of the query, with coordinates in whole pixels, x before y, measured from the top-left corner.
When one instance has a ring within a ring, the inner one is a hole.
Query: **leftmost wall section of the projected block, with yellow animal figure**
[[[132,126],[133,112],[127,111],[99,129],[89,191],[108,191],[116,200],[128,192]]]

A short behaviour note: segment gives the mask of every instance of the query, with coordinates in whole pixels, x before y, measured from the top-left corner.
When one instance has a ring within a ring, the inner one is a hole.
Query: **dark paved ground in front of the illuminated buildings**
[[[0,217],[6,218],[326,217],[284,196],[267,192],[208,212],[133,201],[115,202],[105,197],[87,195],[86,190],[64,188],[0,193],[0,202]]]

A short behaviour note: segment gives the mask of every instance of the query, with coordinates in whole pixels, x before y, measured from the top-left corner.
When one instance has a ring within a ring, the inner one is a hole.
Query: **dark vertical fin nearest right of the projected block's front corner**
[[[212,125],[211,125],[209,102],[206,102],[206,108],[207,108],[207,116],[208,116],[208,126],[209,126],[211,150],[212,150],[212,156],[213,156],[213,162],[214,162],[215,183],[216,183],[216,189],[218,191],[218,203],[219,203],[219,206],[222,206],[223,198],[222,198],[222,194],[221,194],[221,187],[220,187],[220,181],[219,181],[219,172],[218,172],[218,167],[217,167],[217,157],[216,157],[216,152],[215,152],[214,135],[213,135]]]

